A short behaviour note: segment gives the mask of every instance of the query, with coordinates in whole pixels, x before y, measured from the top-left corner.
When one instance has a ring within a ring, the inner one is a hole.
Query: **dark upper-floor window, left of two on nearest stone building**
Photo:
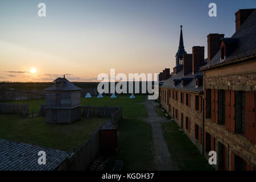
[[[218,90],[218,124],[225,125],[225,90]]]

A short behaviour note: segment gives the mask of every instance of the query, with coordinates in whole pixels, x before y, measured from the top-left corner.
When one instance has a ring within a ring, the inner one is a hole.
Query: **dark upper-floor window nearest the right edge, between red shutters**
[[[236,133],[246,133],[246,92],[236,91]]]

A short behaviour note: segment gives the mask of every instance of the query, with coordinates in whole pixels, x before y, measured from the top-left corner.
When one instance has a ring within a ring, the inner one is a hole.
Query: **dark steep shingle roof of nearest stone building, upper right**
[[[243,22],[240,28],[233,34],[232,38],[238,38],[236,48],[230,55],[220,60],[220,51],[209,61],[208,64],[200,67],[201,70],[217,66],[219,64],[232,62],[243,57],[256,55],[256,9]],[[224,41],[237,41],[236,39],[224,39]]]

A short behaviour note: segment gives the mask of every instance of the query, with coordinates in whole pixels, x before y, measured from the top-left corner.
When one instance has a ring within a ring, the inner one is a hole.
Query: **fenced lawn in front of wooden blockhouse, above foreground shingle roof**
[[[71,152],[104,122],[104,118],[81,118],[72,125],[53,125],[46,123],[46,117],[0,114],[0,138]]]

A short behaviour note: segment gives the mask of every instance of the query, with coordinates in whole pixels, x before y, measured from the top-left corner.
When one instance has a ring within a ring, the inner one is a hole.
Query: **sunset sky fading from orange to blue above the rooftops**
[[[38,4],[46,4],[46,17]],[[210,17],[209,3],[217,16]],[[180,25],[187,53],[207,35],[235,31],[234,13],[255,0],[1,0],[0,81],[97,81],[100,73],[175,67]],[[31,72],[31,68],[32,72]]]

